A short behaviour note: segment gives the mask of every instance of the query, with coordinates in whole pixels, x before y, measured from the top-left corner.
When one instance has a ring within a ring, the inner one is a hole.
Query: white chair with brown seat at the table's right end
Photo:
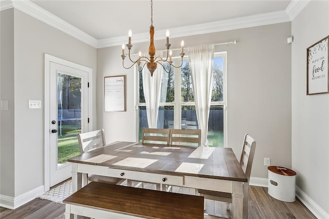
[[[242,145],[242,153],[240,158],[240,165],[242,170],[244,171],[246,177],[248,178],[248,182],[243,184],[243,194],[248,195],[248,186],[250,180],[250,173],[252,167],[253,155],[255,153],[256,142],[250,137],[250,135],[245,134],[243,145]],[[220,202],[226,203],[226,210],[230,210],[230,203],[232,203],[232,194],[226,192],[216,192],[210,190],[198,189],[197,192],[200,196],[204,196],[205,199],[217,200]],[[244,198],[246,202],[248,202],[248,198]],[[206,207],[206,206],[205,206]]]

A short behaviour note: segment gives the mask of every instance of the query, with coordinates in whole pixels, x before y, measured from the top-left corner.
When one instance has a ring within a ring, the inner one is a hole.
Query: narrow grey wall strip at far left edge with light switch
[[[1,16],[1,100],[8,100],[8,110],[0,111],[0,194],[14,196],[14,10]]]

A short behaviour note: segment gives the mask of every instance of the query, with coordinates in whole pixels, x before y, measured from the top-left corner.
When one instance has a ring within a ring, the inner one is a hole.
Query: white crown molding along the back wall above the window
[[[271,12],[265,14],[251,15],[245,17],[239,17],[237,19],[230,19],[225,21],[210,22],[199,25],[192,25],[186,27],[172,28],[170,29],[171,38],[179,38],[182,36],[198,35],[205,33],[214,33],[227,30],[242,29],[247,27],[256,27],[269,24],[278,24],[290,22],[290,19],[285,11]],[[166,30],[159,30],[154,35],[154,40],[165,39]],[[119,36],[117,38],[109,38],[98,40],[97,48],[118,46],[122,43],[126,43],[126,36]],[[135,34],[134,43],[148,42],[150,35],[148,33]]]

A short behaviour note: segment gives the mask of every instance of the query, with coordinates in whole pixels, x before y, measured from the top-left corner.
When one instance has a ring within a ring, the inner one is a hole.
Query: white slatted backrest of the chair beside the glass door
[[[81,154],[103,147],[106,144],[104,130],[100,129],[78,134],[78,141]]]

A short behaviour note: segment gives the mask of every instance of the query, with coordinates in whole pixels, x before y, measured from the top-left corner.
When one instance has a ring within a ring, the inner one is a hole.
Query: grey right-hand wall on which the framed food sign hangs
[[[293,169],[297,186],[326,212],[319,218],[329,218],[329,94],[306,96],[306,48],[329,35],[328,14],[328,1],[311,1],[291,23]]]

